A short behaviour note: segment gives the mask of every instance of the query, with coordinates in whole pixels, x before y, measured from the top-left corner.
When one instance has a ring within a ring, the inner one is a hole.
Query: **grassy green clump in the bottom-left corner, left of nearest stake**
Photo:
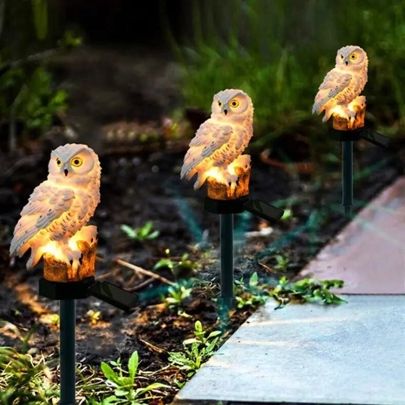
[[[28,341],[35,332],[35,324],[26,334],[10,322],[1,322],[3,328],[14,332],[20,339],[19,348],[0,347],[0,403],[3,405],[49,405],[58,397],[59,389],[52,384],[52,361]]]

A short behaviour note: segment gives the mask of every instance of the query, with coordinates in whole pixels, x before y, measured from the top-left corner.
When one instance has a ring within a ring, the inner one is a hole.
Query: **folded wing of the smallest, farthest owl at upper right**
[[[323,111],[322,107],[325,106],[329,100],[335,98],[339,93],[349,87],[351,79],[351,73],[342,73],[338,69],[332,69],[328,72],[315,96],[312,114],[315,112],[320,114]]]

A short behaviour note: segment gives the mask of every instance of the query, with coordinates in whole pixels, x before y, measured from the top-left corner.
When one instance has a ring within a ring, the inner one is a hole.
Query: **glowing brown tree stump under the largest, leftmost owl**
[[[44,278],[48,281],[68,282],[80,281],[84,278],[94,276],[97,243],[90,245],[84,240],[79,240],[77,241],[77,247],[80,252],[82,252],[82,264],[80,264],[77,269],[45,253]]]

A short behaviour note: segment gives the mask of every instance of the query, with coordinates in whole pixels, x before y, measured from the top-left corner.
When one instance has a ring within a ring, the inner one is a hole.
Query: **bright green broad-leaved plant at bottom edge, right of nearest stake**
[[[115,371],[106,362],[101,362],[101,371],[107,379],[107,385],[114,389],[114,395],[104,398],[102,402],[93,400],[91,403],[94,405],[105,404],[125,404],[125,405],[138,405],[145,403],[148,399],[146,394],[158,388],[169,388],[168,385],[161,383],[152,383],[146,387],[136,388],[136,374],[138,371],[139,357],[138,352],[134,351],[128,360],[128,371],[123,370],[121,367],[120,359],[111,361],[111,365]]]

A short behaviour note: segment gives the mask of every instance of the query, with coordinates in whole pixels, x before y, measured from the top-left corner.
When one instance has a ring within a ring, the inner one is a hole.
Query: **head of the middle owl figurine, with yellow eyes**
[[[226,89],[214,96],[211,111],[217,117],[245,117],[253,114],[253,103],[244,91]]]

